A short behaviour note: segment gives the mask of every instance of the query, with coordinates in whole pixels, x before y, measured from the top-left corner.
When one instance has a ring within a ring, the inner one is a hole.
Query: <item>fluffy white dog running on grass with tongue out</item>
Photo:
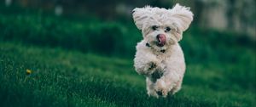
[[[177,42],[193,20],[192,12],[177,3],[172,9],[135,8],[132,15],[143,32],[134,66],[138,74],[147,77],[148,95],[158,98],[177,93],[185,72],[183,51]]]

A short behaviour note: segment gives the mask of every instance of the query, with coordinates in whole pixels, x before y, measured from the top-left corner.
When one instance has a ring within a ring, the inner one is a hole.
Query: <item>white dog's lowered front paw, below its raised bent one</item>
[[[155,82],[154,90],[158,95],[162,97],[166,97],[168,95],[168,88],[166,87],[166,83],[160,79]]]

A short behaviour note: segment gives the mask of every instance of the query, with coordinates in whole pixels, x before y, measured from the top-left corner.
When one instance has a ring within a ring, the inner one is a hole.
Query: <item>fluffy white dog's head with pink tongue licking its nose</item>
[[[135,8],[132,15],[137,28],[143,31],[148,46],[158,50],[180,41],[183,31],[188,29],[193,20],[189,8],[178,3],[172,9],[149,6]]]

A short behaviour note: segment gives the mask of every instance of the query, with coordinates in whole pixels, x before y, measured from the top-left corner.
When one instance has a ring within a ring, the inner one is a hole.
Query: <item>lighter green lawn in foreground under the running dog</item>
[[[154,99],[148,98],[132,59],[14,42],[0,42],[0,52],[1,106],[255,105],[255,82],[239,82],[246,76],[234,81],[244,70],[232,64],[189,64],[183,89]]]

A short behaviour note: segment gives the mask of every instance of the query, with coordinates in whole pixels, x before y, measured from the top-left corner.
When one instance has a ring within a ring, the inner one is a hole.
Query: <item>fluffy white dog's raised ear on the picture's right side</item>
[[[183,7],[178,3],[171,9],[171,17],[175,20],[177,28],[180,31],[186,31],[193,20],[190,8]]]

